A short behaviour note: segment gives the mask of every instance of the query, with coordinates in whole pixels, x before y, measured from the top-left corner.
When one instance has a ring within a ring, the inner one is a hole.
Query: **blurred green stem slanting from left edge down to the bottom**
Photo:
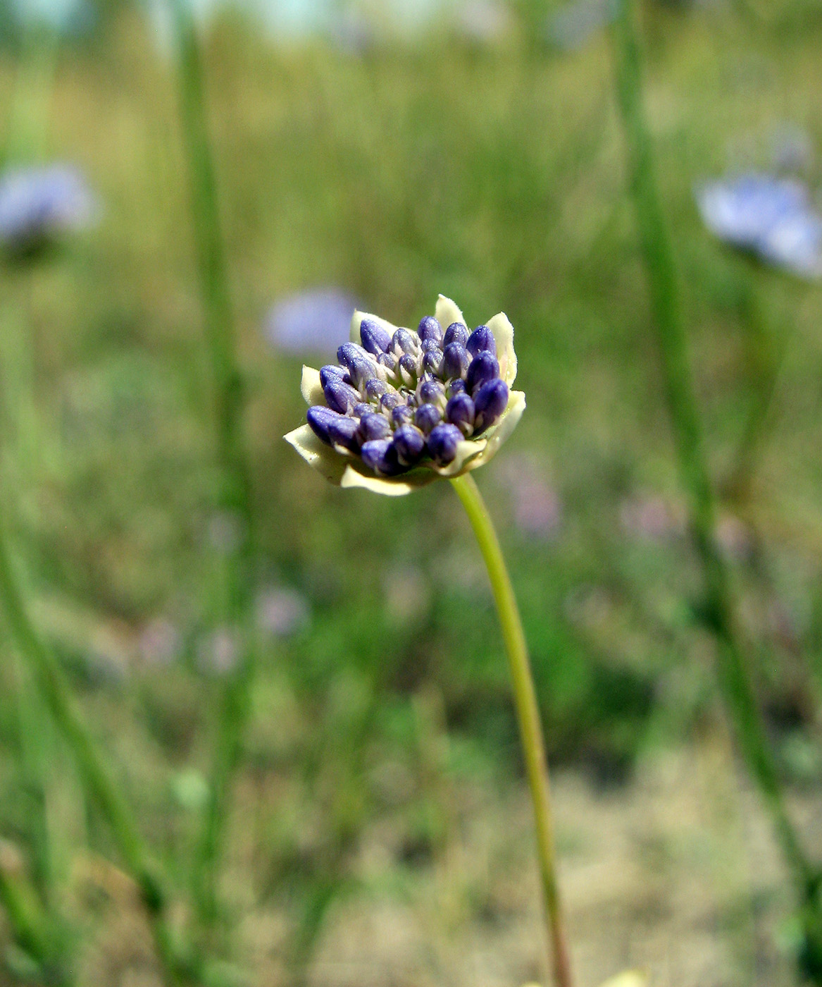
[[[158,955],[171,984],[185,979],[183,966],[172,947],[166,919],[165,893],[124,799],[114,786],[86,726],[69,693],[51,650],[34,630],[12,569],[0,520],[0,609],[20,653],[27,660],[39,691],[58,728],[68,741],[83,781],[99,803],[125,864],[140,887],[151,920]]]

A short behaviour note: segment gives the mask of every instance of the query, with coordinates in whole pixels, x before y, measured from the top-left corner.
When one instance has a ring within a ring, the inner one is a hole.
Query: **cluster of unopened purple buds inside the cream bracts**
[[[479,436],[508,406],[497,343],[487,326],[443,327],[426,316],[417,332],[391,336],[364,319],[362,345],[344,342],[339,365],[319,371],[325,405],[308,409],[323,442],[362,457],[380,476],[433,461],[447,466],[463,439]]]

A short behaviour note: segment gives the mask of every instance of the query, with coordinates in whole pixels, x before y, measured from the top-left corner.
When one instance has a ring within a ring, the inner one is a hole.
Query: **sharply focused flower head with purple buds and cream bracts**
[[[303,367],[308,424],[285,438],[340,487],[399,495],[475,470],[525,409],[508,316],[472,332],[444,295],[416,332],[355,312],[337,360]]]

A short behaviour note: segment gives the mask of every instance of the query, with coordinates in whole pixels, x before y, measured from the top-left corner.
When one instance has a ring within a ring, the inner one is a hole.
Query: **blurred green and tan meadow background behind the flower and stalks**
[[[441,291],[471,326],[500,310],[514,323],[528,409],[477,480],[531,648],[580,983],[635,965],[677,987],[796,982],[786,872],[698,614],[615,10],[195,4],[243,382],[240,516],[171,6],[0,3],[6,537],[180,930],[221,706],[253,652],[203,939],[223,983],[547,978],[505,654],[457,500],[440,484],[335,490],[281,437],[304,420],[302,363],[331,360],[355,306],[416,326]],[[643,0],[639,14],[716,538],[814,849],[822,7]],[[226,587],[246,555],[239,630]],[[38,889],[76,983],[162,984],[139,894],[29,677],[4,631],[0,863]],[[3,915],[0,949],[4,987],[66,982]]]

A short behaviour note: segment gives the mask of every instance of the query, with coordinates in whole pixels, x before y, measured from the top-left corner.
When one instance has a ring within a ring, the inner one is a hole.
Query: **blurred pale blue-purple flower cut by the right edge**
[[[750,173],[708,182],[696,198],[720,240],[802,277],[822,275],[822,217],[801,182]]]

